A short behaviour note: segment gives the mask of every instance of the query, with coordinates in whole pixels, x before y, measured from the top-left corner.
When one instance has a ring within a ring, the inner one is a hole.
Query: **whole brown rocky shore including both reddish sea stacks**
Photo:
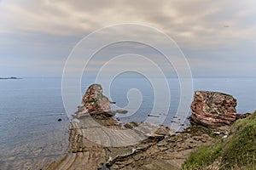
[[[236,99],[230,95],[198,91],[192,125],[174,133],[163,125],[122,126],[109,104],[100,85],[90,86],[71,122],[67,155],[44,169],[181,169],[192,150],[226,138],[230,124],[246,117],[236,115]]]

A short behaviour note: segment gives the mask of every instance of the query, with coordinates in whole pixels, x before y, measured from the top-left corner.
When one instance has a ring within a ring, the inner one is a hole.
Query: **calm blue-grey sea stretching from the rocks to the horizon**
[[[256,78],[194,78],[193,81],[194,90],[232,94],[238,100],[236,110],[239,113],[256,110]],[[94,80],[84,78],[82,82],[83,94]],[[166,126],[172,121],[180,100],[178,80],[169,78],[168,82],[170,110],[163,113],[158,105],[154,113],[166,115]],[[127,98],[131,88],[139,89],[141,95],[131,93]],[[129,111],[126,116],[118,115],[121,122],[144,121],[156,102],[153,87],[141,77],[119,77],[113,81],[110,92],[108,97],[117,102],[113,109],[126,106]],[[137,105],[140,99],[142,103]],[[59,118],[61,122],[57,121]],[[61,78],[24,77],[0,81],[0,169],[7,164],[12,168],[13,162],[22,159],[61,156],[67,149],[68,128],[69,121],[61,98]]]

